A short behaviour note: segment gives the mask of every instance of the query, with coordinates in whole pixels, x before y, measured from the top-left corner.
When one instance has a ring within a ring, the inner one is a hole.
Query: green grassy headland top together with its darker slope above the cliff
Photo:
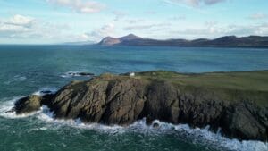
[[[214,91],[216,98],[226,101],[251,100],[256,105],[268,107],[268,71],[211,72],[180,74],[172,71],[147,71],[136,73],[147,80],[167,80],[181,90],[192,93]]]

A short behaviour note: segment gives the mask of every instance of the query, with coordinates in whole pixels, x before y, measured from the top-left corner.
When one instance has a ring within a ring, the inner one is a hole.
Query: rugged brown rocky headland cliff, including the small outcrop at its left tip
[[[246,91],[250,95],[243,96],[245,92],[239,88],[185,85],[181,76],[164,71],[135,76],[103,74],[87,81],[73,81],[55,94],[21,98],[13,110],[30,113],[47,105],[59,119],[80,118],[82,122],[107,125],[129,125],[142,118],[151,123],[157,119],[192,127],[210,125],[211,130],[221,128],[229,138],[267,141],[268,108],[255,104],[255,92]],[[266,91],[260,94],[268,99]]]

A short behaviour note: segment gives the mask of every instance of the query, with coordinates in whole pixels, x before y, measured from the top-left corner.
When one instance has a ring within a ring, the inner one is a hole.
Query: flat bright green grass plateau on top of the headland
[[[148,71],[140,72],[136,75],[140,78],[152,80],[168,80],[183,86],[268,91],[268,71],[211,72],[203,74]]]

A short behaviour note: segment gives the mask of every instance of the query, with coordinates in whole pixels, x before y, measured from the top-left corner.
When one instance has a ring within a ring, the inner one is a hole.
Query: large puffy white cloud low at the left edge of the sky
[[[10,19],[0,21],[0,38],[11,40],[30,39],[46,43],[43,40],[55,40],[67,37],[63,31],[69,31],[67,25],[52,24],[46,21],[39,21],[33,17],[16,14]],[[68,38],[68,37],[67,37]]]

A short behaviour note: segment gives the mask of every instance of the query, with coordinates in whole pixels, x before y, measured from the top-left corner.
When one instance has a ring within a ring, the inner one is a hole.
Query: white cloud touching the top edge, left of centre
[[[105,8],[104,4],[100,4],[92,0],[46,0],[48,3],[58,6],[69,7],[78,13],[98,13]]]

